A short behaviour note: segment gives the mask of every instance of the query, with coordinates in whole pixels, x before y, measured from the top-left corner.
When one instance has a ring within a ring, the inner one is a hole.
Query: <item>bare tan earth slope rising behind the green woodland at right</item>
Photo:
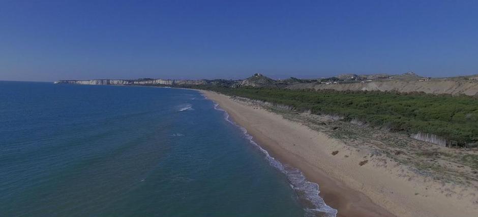
[[[378,91],[398,91],[398,92],[425,92],[433,94],[466,94],[476,95],[478,93],[478,81],[469,80],[449,80],[432,79],[430,81],[400,81],[400,80],[377,80],[364,83],[352,84],[293,84],[288,86],[290,89],[333,89],[333,90],[378,90]]]

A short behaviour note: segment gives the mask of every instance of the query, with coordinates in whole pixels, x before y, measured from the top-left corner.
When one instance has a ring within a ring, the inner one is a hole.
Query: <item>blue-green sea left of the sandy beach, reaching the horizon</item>
[[[335,216],[195,90],[0,82],[0,216]]]

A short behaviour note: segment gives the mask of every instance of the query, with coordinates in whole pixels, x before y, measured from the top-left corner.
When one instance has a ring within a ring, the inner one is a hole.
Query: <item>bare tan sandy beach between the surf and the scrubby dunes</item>
[[[318,183],[320,196],[338,209],[338,216],[478,216],[474,190],[446,194],[443,184],[405,177],[402,174],[412,168],[373,158],[365,148],[354,149],[326,133],[228,96],[201,92],[219,103],[272,156]]]

